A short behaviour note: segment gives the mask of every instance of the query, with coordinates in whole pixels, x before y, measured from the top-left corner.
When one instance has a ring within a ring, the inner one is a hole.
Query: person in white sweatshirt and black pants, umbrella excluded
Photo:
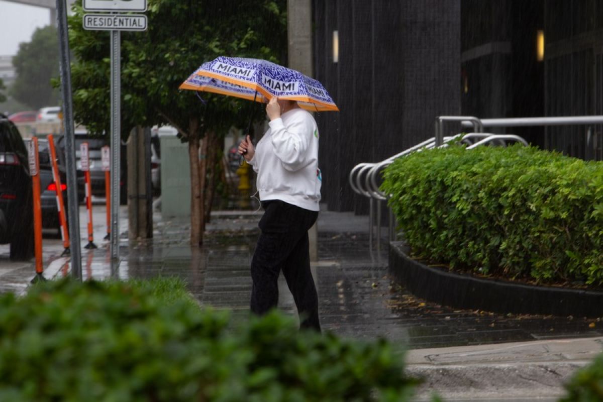
[[[320,331],[308,240],[320,201],[318,127],[295,101],[275,96],[266,113],[270,128],[262,139],[254,146],[247,136],[238,148],[257,173],[257,191],[265,211],[251,260],[251,312],[263,315],[277,306],[278,278],[283,271],[300,327]]]

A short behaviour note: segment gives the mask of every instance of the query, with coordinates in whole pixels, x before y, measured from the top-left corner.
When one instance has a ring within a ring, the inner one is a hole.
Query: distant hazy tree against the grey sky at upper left
[[[17,78],[10,95],[33,109],[56,105],[58,91],[52,87],[51,79],[58,75],[57,28],[48,25],[38,28],[31,42],[19,45],[13,57]]]

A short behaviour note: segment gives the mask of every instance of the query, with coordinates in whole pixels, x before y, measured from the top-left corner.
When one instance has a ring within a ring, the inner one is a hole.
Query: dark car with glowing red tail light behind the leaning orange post
[[[25,144],[30,142],[25,140]],[[42,204],[42,227],[61,230],[61,222],[58,218],[57,208],[57,184],[52,175],[52,164],[50,157],[50,148],[48,140],[38,139],[38,159],[40,163],[40,198]],[[63,203],[65,219],[68,219],[68,201],[67,201],[67,174],[65,165],[58,162],[58,174],[61,176],[61,189],[63,191]]]

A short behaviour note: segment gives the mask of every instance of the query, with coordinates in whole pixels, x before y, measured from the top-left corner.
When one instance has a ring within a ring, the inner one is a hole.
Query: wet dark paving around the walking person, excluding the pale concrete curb
[[[103,240],[104,205],[98,203],[94,210],[99,248],[82,250],[84,278],[109,277],[112,272],[119,278],[180,277],[204,306],[229,309],[235,316],[248,314],[249,263],[260,213],[214,213],[204,246],[191,248],[189,222],[162,219],[158,211],[154,238],[130,244],[125,235],[127,209],[122,207],[120,261],[112,270],[109,242]],[[80,225],[85,228],[86,210],[81,207],[80,212]],[[81,243],[85,245],[87,239]],[[45,275],[66,274],[69,259],[60,257],[60,237],[46,233],[44,246]],[[455,310],[419,300],[391,279],[387,260],[385,240],[380,251],[369,247],[367,217],[321,212],[318,262],[312,269],[325,330],[359,339],[383,336],[412,349],[603,336],[601,319]],[[10,262],[8,245],[0,246],[0,291],[24,291],[33,274],[33,261]],[[280,309],[294,313],[283,278],[280,294]]]

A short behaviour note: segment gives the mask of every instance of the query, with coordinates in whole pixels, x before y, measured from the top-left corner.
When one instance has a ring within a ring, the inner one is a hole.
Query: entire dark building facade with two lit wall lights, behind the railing
[[[365,213],[350,170],[432,137],[437,116],[603,115],[602,0],[314,0],[312,12],[315,77],[341,110],[317,115],[329,210]],[[488,131],[603,159],[600,125]]]

